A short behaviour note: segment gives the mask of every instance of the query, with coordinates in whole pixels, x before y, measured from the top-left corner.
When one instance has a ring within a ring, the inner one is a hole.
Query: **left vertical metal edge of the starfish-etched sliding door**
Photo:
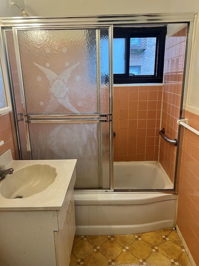
[[[20,86],[20,92],[21,92],[21,102],[23,105],[23,107],[22,107],[23,108],[23,118],[25,118],[25,114],[27,114],[27,109],[26,109],[26,102],[25,102],[23,75],[22,75],[22,69],[21,69],[21,58],[20,58],[18,34],[17,34],[17,29],[15,27],[12,28],[12,31],[13,31],[13,38],[14,38],[19,86]],[[28,123],[25,123],[25,120],[24,120],[24,128],[25,128],[25,137],[26,137],[26,145],[27,145],[27,155],[28,155],[28,159],[32,160],[29,128],[28,128]]]

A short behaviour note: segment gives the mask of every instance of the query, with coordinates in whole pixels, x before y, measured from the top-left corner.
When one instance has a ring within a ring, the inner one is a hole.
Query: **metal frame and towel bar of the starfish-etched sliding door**
[[[109,29],[109,113],[107,114],[100,114],[100,36],[99,30],[100,29]],[[96,56],[97,59],[97,113],[98,114],[71,114],[71,115],[27,115],[27,108],[26,108],[26,99],[25,99],[25,90],[24,90],[24,83],[23,83],[23,74],[22,74],[22,67],[21,67],[21,59],[20,59],[20,48],[18,42],[18,31],[19,30],[67,30],[67,29],[95,29],[96,30]],[[5,30],[3,30],[5,31]],[[110,180],[110,188],[109,191],[113,191],[113,140],[112,140],[112,132],[113,132],[113,125],[112,125],[112,97],[113,97],[113,67],[112,67],[112,47],[111,44],[113,40],[113,25],[105,25],[105,26],[42,26],[42,27],[12,27],[12,33],[14,38],[14,46],[15,46],[15,55],[16,55],[16,63],[17,63],[17,71],[18,71],[18,79],[19,79],[19,86],[20,86],[20,93],[22,99],[22,109],[23,109],[23,121],[24,121],[24,128],[25,128],[25,138],[27,144],[27,156],[31,160],[31,143],[30,143],[30,133],[29,133],[29,126],[28,123],[98,123],[98,157],[99,157],[99,182],[100,176],[102,176],[102,148],[101,148],[101,125],[99,122],[109,122],[109,180]],[[6,34],[3,34],[5,41],[6,41]],[[8,56],[8,51],[7,56]],[[11,72],[11,71],[10,71]],[[12,86],[11,86],[12,87]],[[13,88],[11,88],[13,90]],[[13,92],[14,94],[14,92]],[[58,119],[61,117],[61,119]],[[19,139],[18,139],[18,142]],[[102,183],[102,181],[101,181]],[[102,191],[102,190],[99,190]]]

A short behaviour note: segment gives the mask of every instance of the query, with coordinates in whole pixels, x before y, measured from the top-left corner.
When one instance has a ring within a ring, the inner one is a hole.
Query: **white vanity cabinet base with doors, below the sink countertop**
[[[1,266],[69,266],[75,180],[74,171],[60,210],[0,211]]]

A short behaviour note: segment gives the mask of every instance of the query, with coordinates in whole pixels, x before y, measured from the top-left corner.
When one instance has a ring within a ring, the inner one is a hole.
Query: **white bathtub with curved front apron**
[[[132,180],[131,163],[114,165],[114,187],[118,189],[172,188],[167,176],[147,163],[132,163],[141,167]],[[120,169],[115,167],[120,166]],[[139,168],[138,167],[138,168]],[[131,168],[131,169],[130,169]],[[142,170],[145,169],[145,172]],[[148,170],[147,170],[148,169]],[[133,172],[132,172],[133,171]],[[142,176],[138,176],[142,172]],[[145,173],[145,174],[143,174]],[[135,180],[137,184],[135,184]],[[160,181],[161,180],[161,181]],[[126,181],[129,183],[126,185]],[[154,187],[151,187],[151,183]],[[129,188],[130,186],[130,188]],[[76,235],[123,235],[143,233],[175,226],[177,195],[165,193],[75,192]]]

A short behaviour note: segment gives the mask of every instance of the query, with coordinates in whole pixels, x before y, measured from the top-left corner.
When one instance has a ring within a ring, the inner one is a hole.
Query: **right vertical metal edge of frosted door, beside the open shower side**
[[[113,25],[109,27],[109,112],[113,114]],[[110,189],[113,191],[113,118],[110,120]]]

